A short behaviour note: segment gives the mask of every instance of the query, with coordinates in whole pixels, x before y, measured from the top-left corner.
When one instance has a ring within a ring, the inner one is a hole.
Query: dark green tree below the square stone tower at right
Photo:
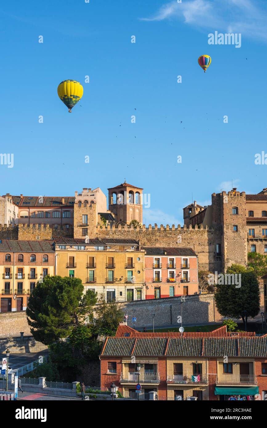
[[[241,287],[235,285],[217,285],[214,295],[219,313],[228,318],[255,317],[260,310],[260,291],[254,272],[241,273]]]

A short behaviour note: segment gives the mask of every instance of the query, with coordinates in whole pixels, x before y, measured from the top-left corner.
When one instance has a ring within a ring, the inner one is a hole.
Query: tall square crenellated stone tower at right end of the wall
[[[217,232],[218,244],[221,245],[219,253],[223,269],[226,270],[232,263],[246,265],[246,193],[237,192],[234,188],[228,193],[213,193],[211,197],[212,226]]]

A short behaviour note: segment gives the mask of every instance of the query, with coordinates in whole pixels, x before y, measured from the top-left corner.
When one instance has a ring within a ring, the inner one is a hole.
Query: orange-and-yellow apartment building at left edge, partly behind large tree
[[[26,310],[36,283],[54,268],[52,241],[0,241],[0,312]]]

